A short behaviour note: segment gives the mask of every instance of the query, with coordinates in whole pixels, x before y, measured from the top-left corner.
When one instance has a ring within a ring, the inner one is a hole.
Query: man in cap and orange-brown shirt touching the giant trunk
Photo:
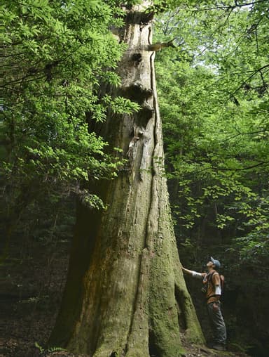
[[[202,279],[204,284],[203,291],[207,299],[207,311],[212,327],[214,343],[212,349],[226,351],[226,325],[221,313],[221,277],[216,271],[221,267],[218,260],[210,258],[207,263],[207,273],[190,271],[182,266],[184,273],[192,275],[194,278]]]

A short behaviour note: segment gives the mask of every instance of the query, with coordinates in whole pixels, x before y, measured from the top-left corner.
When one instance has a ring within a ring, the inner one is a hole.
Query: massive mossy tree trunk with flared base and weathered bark
[[[118,72],[120,93],[136,100],[135,115],[107,118],[103,135],[123,148],[127,164],[100,185],[108,205],[80,205],[67,285],[50,346],[94,357],[176,357],[181,333],[203,342],[186,290],[164,176],[151,21],[144,7],[129,11]]]

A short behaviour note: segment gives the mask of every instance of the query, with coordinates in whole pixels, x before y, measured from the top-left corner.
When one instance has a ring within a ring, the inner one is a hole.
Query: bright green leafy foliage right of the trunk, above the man
[[[158,22],[160,40],[178,44],[159,54],[157,74],[179,239],[209,234],[230,249],[238,238],[242,261],[268,256],[265,8],[193,1]]]

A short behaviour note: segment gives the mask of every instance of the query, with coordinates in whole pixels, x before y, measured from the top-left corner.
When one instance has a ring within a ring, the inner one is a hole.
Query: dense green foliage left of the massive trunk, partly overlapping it
[[[114,70],[124,46],[109,28],[122,24],[123,11],[113,1],[11,0],[0,13],[4,221],[14,224],[27,205],[70,193],[102,207],[81,182],[115,177],[120,162],[90,126],[107,110],[138,110],[130,100],[97,95],[100,85],[120,83]]]

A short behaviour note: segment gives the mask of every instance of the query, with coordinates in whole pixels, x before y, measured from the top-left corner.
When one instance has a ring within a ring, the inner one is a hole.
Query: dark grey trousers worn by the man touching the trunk
[[[214,302],[207,304],[210,325],[212,327],[214,342],[217,344],[226,344],[226,325],[221,313],[221,302],[215,302],[219,305],[219,309],[213,309]]]

